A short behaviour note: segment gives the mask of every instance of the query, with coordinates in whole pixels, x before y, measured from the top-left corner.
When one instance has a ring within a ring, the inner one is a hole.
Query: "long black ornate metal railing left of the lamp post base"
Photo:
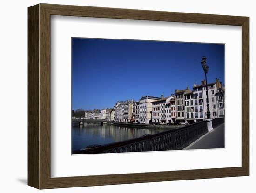
[[[204,121],[126,141],[106,145],[91,145],[85,149],[75,150],[73,154],[177,150],[187,147],[207,132],[207,122]]]

